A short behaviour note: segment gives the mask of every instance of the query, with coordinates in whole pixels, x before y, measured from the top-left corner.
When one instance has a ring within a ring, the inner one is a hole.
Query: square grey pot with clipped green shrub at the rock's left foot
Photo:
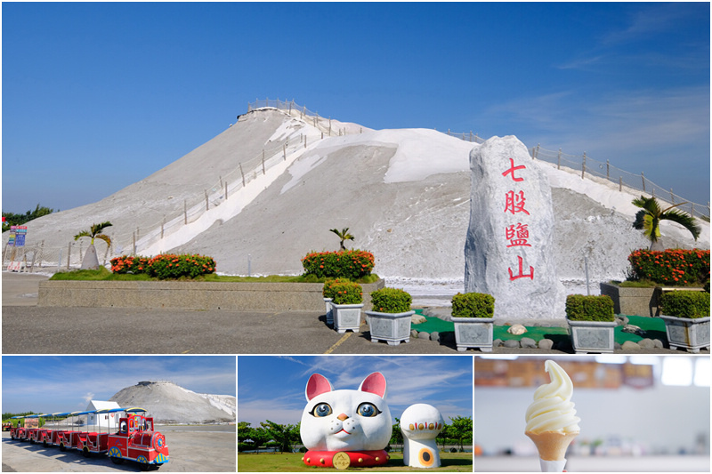
[[[452,322],[457,350],[492,351],[495,298],[486,293],[457,293],[452,297]]]

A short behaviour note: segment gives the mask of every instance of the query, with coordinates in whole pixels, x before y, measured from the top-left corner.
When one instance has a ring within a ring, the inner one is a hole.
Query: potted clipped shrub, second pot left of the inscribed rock
[[[397,346],[410,341],[410,294],[399,288],[381,288],[371,293],[372,310],[366,311],[371,342],[386,341]]]

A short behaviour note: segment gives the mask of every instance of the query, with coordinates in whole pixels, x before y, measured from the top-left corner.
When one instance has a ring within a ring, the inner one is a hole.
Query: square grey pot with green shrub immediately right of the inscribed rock
[[[612,353],[616,317],[610,296],[570,294],[566,297],[566,319],[571,345],[577,353]]]

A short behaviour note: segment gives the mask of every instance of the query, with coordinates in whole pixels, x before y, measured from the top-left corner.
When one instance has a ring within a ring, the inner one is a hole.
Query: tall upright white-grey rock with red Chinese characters
[[[554,261],[554,211],[546,172],[514,136],[470,152],[465,292],[495,297],[495,317],[564,317]]]

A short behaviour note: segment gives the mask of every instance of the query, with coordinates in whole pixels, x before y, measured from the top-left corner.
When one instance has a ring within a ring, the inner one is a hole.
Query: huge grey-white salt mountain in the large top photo
[[[182,215],[184,199],[203,196],[206,183],[234,175],[239,163],[262,149],[288,145],[282,163],[265,174],[259,170],[257,179],[227,199],[211,195],[217,202],[211,201],[198,221],[158,244],[139,246],[138,253],[202,253],[214,257],[218,271],[227,274],[244,275],[248,268],[253,275],[299,274],[306,253],[338,248],[328,229],[348,227],[356,237],[349,244],[376,255],[380,276],[400,284],[401,279],[431,286],[453,282],[450,289],[463,291],[469,156],[478,145],[433,130],[340,126],[353,134],[322,139],[320,130],[299,117],[273,108],[249,112],[185,157],[98,203],[28,222],[28,245],[44,240],[44,260],[56,262],[60,251],[66,259],[79,230],[111,221],[107,231],[121,245],[115,252],[130,253],[122,236],[136,228],[143,235],[164,216]],[[306,148],[295,147],[303,137]],[[624,278],[627,255],[649,246],[632,228],[635,194],[540,161],[531,160],[530,168],[544,170],[552,187],[559,278],[582,281],[584,257],[592,281]],[[702,235],[695,243],[689,232],[665,222],[663,241],[667,247],[709,248],[709,224],[700,225]],[[105,249],[99,243],[100,261]]]

